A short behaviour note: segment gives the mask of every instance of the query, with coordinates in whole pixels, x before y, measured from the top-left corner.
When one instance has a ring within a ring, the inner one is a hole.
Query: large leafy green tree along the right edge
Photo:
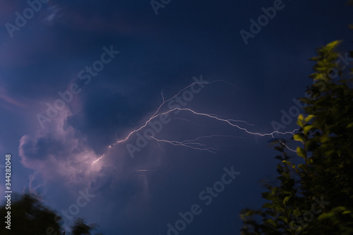
[[[305,114],[292,136],[297,156],[289,157],[285,140],[273,140],[282,152],[280,186],[267,186],[260,210],[241,211],[241,234],[353,234],[353,86],[345,54],[335,52],[339,43],[311,58],[313,84],[299,99]]]

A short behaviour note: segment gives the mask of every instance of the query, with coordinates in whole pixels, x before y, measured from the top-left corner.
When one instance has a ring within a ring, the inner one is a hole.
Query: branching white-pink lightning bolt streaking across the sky
[[[251,135],[258,135],[258,136],[268,136],[268,135],[271,135],[273,138],[274,138],[274,134],[277,133],[277,134],[280,134],[280,135],[286,135],[286,134],[294,134],[296,131],[298,131],[299,129],[294,129],[293,131],[286,131],[286,132],[280,132],[280,131],[273,131],[271,133],[258,133],[258,132],[253,132],[253,131],[248,131],[248,129],[244,128],[244,127],[241,127],[239,126],[237,123],[241,122],[241,123],[246,123],[247,125],[249,126],[253,126],[253,124],[250,124],[250,123],[247,123],[246,121],[243,121],[243,120],[235,120],[235,119],[225,119],[224,117],[222,116],[219,116],[219,115],[216,115],[216,114],[205,114],[205,113],[201,113],[201,112],[196,112],[194,111],[193,109],[186,109],[186,108],[174,108],[174,109],[169,109],[167,110],[166,112],[161,112],[160,110],[162,109],[162,107],[164,106],[164,104],[166,104],[167,102],[169,102],[170,100],[173,100],[175,97],[177,97],[178,95],[181,94],[181,92],[183,92],[184,90],[188,89],[188,88],[191,88],[191,86],[193,85],[196,85],[196,84],[205,84],[205,85],[210,85],[212,83],[226,83],[227,85],[232,85],[235,87],[235,85],[233,85],[232,83],[229,83],[227,82],[226,80],[213,80],[213,81],[203,81],[203,82],[194,82],[194,83],[191,83],[190,85],[188,85],[186,88],[183,88],[181,90],[179,90],[179,92],[174,95],[173,97],[165,100],[164,99],[164,95],[163,95],[163,91],[161,92],[161,95],[162,95],[162,103],[160,104],[160,106],[156,109],[155,113],[152,114],[152,116],[150,116],[150,118],[145,121],[145,123],[140,126],[139,128],[136,128],[135,130],[131,131],[130,133],[128,133],[128,135],[126,135],[125,138],[121,139],[121,140],[117,140],[115,143],[113,143],[112,145],[109,145],[109,150],[112,150],[112,148],[114,147],[114,145],[117,145],[119,143],[124,143],[126,142],[126,140],[128,140],[131,135],[133,135],[133,133],[136,133],[138,131],[140,131],[141,129],[145,128],[148,123],[150,123],[150,121],[152,121],[153,119],[157,118],[158,116],[162,116],[162,115],[165,115],[165,114],[169,114],[171,112],[174,112],[174,111],[181,111],[181,112],[189,112],[195,116],[204,116],[206,118],[209,118],[209,119],[214,119],[216,121],[220,121],[220,122],[224,122],[224,123],[227,123],[229,126],[232,126],[234,128],[238,128],[239,130],[241,131],[244,131],[245,133],[248,133],[248,134],[251,134]],[[183,119],[184,121],[189,121],[189,120],[186,120],[186,119]],[[212,137],[215,137],[215,136],[225,136],[225,137],[234,137],[233,135],[209,135],[209,136],[201,136],[201,137],[198,137],[194,140],[184,140],[184,141],[176,141],[176,140],[162,140],[162,139],[158,139],[154,136],[150,136],[150,138],[156,140],[158,143],[169,143],[171,145],[176,145],[176,146],[184,146],[184,147],[189,147],[193,150],[203,150],[203,151],[208,151],[208,152],[212,152],[212,153],[215,153],[215,148],[213,147],[207,147],[206,145],[203,145],[202,143],[198,143],[196,142],[196,140],[200,140],[201,138],[212,138]],[[287,147],[287,145],[285,145]],[[290,149],[289,147],[287,147],[289,150],[292,150]],[[297,152],[295,150],[292,150],[294,152]],[[100,156],[99,158],[97,158],[94,162],[92,162],[92,164],[95,164],[96,162],[98,162],[100,159],[102,159],[105,155],[107,155],[107,152],[104,153],[102,156]]]

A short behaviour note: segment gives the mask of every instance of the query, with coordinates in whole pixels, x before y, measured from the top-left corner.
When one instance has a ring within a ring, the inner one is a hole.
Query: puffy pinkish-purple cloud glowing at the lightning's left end
[[[82,183],[90,179],[99,166],[91,166],[96,155],[83,135],[68,126],[68,111],[53,119],[34,137],[20,138],[19,155],[24,167],[39,171],[45,181],[64,180],[64,183]]]

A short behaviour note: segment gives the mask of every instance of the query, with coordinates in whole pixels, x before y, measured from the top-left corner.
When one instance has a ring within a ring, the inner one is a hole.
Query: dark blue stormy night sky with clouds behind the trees
[[[352,49],[346,1],[46,1],[0,1],[0,157],[102,234],[239,234],[291,137],[261,135],[297,128],[316,47]]]

